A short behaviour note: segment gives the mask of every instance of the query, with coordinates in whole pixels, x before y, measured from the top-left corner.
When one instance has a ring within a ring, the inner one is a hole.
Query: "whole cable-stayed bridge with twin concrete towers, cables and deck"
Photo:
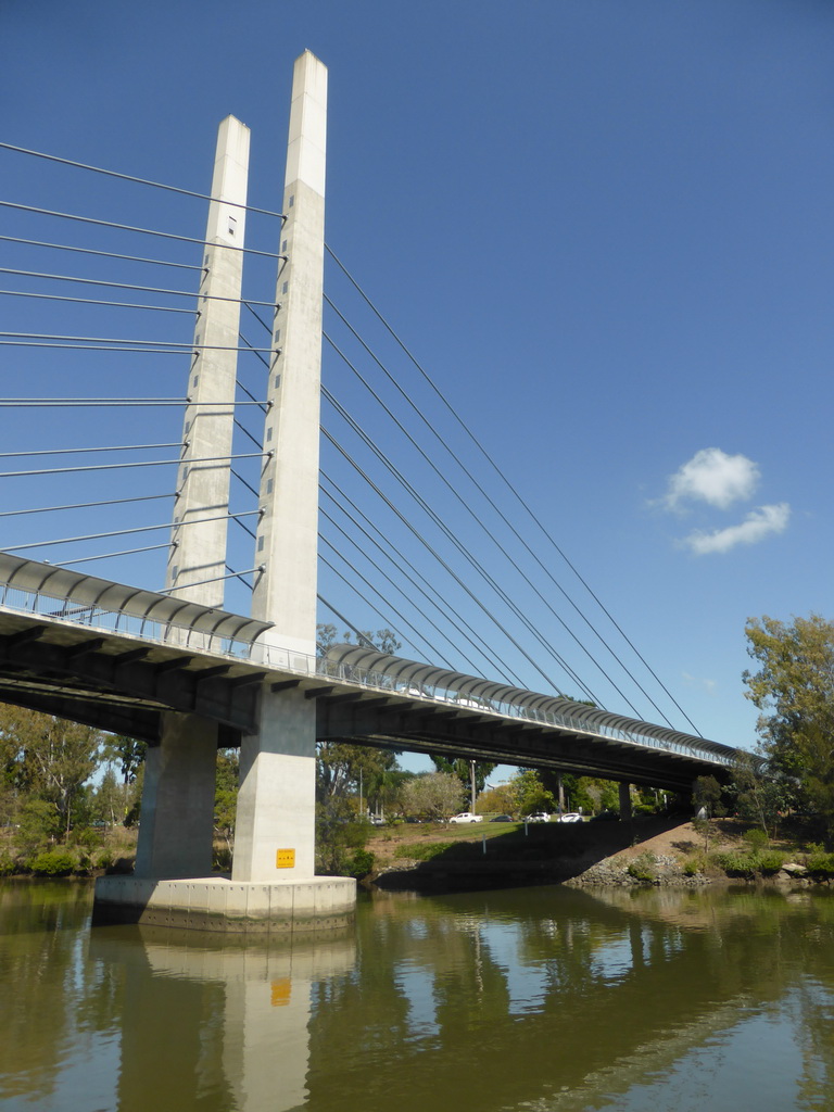
[[[231,117],[206,195],[4,148],[47,178],[118,189],[1,206],[14,288],[0,342],[31,396],[3,403],[17,466],[0,510],[0,695],[151,743],[137,861],[151,881],[209,871],[218,745],[241,746],[244,885],[314,876],[317,737],[673,790],[735,756],[673,726],[671,692],[325,248],[326,87],[304,54],[280,210],[249,202],[249,132]],[[153,206],[122,215],[119,190],[172,199],[169,230]],[[181,230],[187,202],[208,205],[203,236]],[[258,221],[271,231],[250,234]],[[326,256],[380,340],[324,292]],[[322,337],[337,368],[324,385]],[[368,399],[373,433],[355,416]],[[149,428],[151,443],[118,443]],[[369,612],[395,652],[354,624]],[[356,643],[317,652],[316,622],[332,617]]]

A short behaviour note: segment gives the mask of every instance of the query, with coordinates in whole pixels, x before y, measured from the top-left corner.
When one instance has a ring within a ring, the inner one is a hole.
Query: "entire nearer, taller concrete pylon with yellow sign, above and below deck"
[[[292,75],[252,597],[252,615],[275,623],[267,663],[290,666],[316,652],[326,136],[327,69],[305,51]],[[266,686],[258,732],[240,747],[234,881],[315,875],[315,702]]]

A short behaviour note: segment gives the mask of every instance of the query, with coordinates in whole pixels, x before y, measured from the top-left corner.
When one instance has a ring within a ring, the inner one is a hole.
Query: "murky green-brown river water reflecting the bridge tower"
[[[366,898],[311,944],[0,884],[0,1110],[834,1108],[834,894]]]

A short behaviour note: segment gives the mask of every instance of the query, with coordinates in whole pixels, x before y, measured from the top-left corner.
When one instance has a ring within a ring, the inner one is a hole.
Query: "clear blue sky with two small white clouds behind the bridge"
[[[458,417],[697,728],[753,745],[755,713],[741,679],[748,664],[745,619],[827,616],[832,609],[830,3],[7,0],[0,31],[6,142],[206,191],[217,126],[234,113],[252,130],[250,200],[270,209],[280,205],[292,60],[305,48],[321,58],[330,82],[328,242],[449,408],[332,264],[330,297],[440,439],[467,466],[480,468],[502,513],[673,724],[691,728],[478,457]],[[13,201],[202,234],[200,202],[2,150],[0,177],[2,195]],[[0,224],[4,235],[102,248],[116,242],[106,229],[68,228],[17,210],[0,210]],[[276,249],[268,218],[251,218],[249,231],[250,244]],[[90,236],[98,238],[85,239]],[[118,242],[121,251],[139,246]],[[162,248],[153,239],[143,249],[189,257],[187,246]],[[95,264],[93,270],[81,256],[53,254],[47,265],[40,250],[0,241],[8,260],[2,265],[10,268],[148,280],[138,270],[126,277],[128,270],[115,264]],[[7,289],[47,289],[34,279],[2,277]],[[175,277],[189,288],[188,276],[167,274],[166,284]],[[266,265],[256,264],[247,281],[250,297],[271,297]],[[6,297],[0,328],[160,338],[176,331],[186,342],[190,336],[187,315],[171,321],[162,314],[126,310],[108,319],[92,312],[66,304],[47,310],[43,302]],[[365,373],[391,408],[399,406],[390,384],[339,331],[331,312],[327,327],[351,361],[365,360]],[[257,346],[257,331],[249,338]],[[178,395],[185,366],[180,357],[149,364],[143,355],[17,347],[2,357],[8,396]],[[658,721],[655,706],[620,675],[481,495],[467,487],[415,410],[403,409],[401,419],[449,476],[471,517],[328,345],[325,383],[414,476],[454,535],[507,584],[528,622],[599,702],[631,714],[625,696],[639,716]],[[147,410],[0,413],[4,450],[23,450],[36,438],[66,447],[179,437],[180,417],[167,411],[156,411],[152,421]],[[322,414],[353,444],[358,463],[377,466],[327,404]],[[397,550],[439,583],[443,576],[429,570],[425,549],[375,503],[357,473],[329,448],[322,461]],[[149,488],[148,471],[119,476],[118,489]],[[91,488],[97,493],[85,487],[83,498],[98,497],[112,479],[105,473],[101,487]],[[78,476],[50,477],[47,487],[36,478],[2,481],[10,507],[52,505],[64,493],[82,497]],[[168,489],[165,473],[153,481],[155,492]],[[390,477],[379,483],[405,509]],[[128,518],[130,524],[140,520],[139,513],[108,510],[98,525],[66,515],[59,535],[105,530],[108,522]],[[152,513],[165,522],[167,510]],[[415,520],[428,536],[429,526]],[[4,547],[54,536],[54,523],[56,516],[42,525],[8,518]],[[599,657],[610,682],[506,566],[487,534],[505,538],[513,564]],[[245,535],[239,543],[250,544]],[[367,546],[363,557],[336,535],[334,543],[356,567],[368,560]],[[458,560],[448,537],[435,547]],[[60,558],[47,549],[32,554]],[[241,549],[236,566],[250,567],[251,555]],[[470,568],[455,566],[512,639],[495,632],[451,583],[454,603],[445,617],[437,616],[441,629],[464,618],[532,688],[548,686],[544,673],[568,694],[582,694],[553,658],[543,663],[529,629]],[[149,586],[161,585],[162,568],[158,553],[141,562],[90,565],[98,574]],[[321,592],[363,628],[396,625],[328,568],[321,570]],[[232,596],[230,605],[245,602]],[[419,625],[407,607],[398,604]],[[321,617],[330,619],[324,610]],[[473,671],[460,656],[459,638],[449,647],[438,637],[429,639],[447,659]],[[404,638],[401,652],[431,658],[425,642]],[[490,674],[488,663],[477,663]]]

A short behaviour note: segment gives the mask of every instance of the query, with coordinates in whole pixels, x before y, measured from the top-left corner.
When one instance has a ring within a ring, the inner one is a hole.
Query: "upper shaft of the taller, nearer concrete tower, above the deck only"
[[[316,651],[326,137],[327,69],[305,51],[292,79],[252,597],[252,616],[276,623],[269,643],[305,654]]]

